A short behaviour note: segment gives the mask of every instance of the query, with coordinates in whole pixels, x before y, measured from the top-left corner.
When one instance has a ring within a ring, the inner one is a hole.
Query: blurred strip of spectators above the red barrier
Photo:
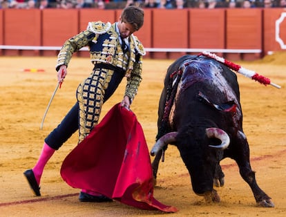
[[[286,0],[0,0],[0,8],[286,8]]]

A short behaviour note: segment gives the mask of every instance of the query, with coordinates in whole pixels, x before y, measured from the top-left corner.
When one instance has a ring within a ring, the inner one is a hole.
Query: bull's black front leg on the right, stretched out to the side
[[[241,131],[238,132],[238,140],[235,145],[238,150],[236,155],[233,156],[233,159],[236,160],[238,164],[240,176],[242,176],[243,180],[245,180],[251,188],[256,203],[260,207],[274,207],[274,203],[271,201],[271,198],[267,196],[262,189],[260,189],[256,182],[255,172],[252,171],[249,160],[249,144],[245,134]]]

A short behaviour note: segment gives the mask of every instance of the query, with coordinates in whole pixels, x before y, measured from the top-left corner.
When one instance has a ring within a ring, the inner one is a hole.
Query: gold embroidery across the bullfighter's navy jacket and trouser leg
[[[91,35],[94,36],[94,34],[95,37],[90,37]],[[107,37],[104,39],[104,44],[97,44],[99,37]],[[129,37],[130,49],[124,54],[118,37],[119,35],[115,31],[115,24],[111,26],[111,23],[102,23],[101,21],[90,22],[88,23],[87,30],[68,39],[62,46],[56,67],[63,64],[68,66],[73,53],[84,46],[88,46],[89,43],[94,43],[94,47],[90,46],[91,62],[104,62],[120,67],[123,70],[127,68],[125,95],[132,101],[142,80],[142,55],[145,55],[145,50],[137,37],[131,35]],[[138,58],[139,62],[135,62],[135,59],[138,61]],[[112,75],[113,70],[95,70],[77,88],[77,100],[79,102],[79,142],[84,140],[99,120],[104,100],[103,96]],[[90,81],[93,86],[90,85]]]

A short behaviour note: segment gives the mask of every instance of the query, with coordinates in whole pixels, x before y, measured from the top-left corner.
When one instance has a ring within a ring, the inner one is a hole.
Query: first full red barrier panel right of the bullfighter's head
[[[153,47],[188,47],[188,12],[182,10],[153,10]],[[185,53],[153,53],[155,59],[175,59]]]

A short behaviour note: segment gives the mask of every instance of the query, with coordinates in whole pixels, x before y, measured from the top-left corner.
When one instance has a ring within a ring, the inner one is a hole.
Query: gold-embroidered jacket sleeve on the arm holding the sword
[[[64,45],[61,47],[59,51],[59,55],[57,56],[57,65],[56,70],[59,70],[59,66],[66,65],[70,62],[73,53],[77,52],[79,49],[88,45],[89,41],[92,41],[95,38],[95,33],[90,30],[85,30],[80,32],[78,35],[71,37],[66,40]]]

